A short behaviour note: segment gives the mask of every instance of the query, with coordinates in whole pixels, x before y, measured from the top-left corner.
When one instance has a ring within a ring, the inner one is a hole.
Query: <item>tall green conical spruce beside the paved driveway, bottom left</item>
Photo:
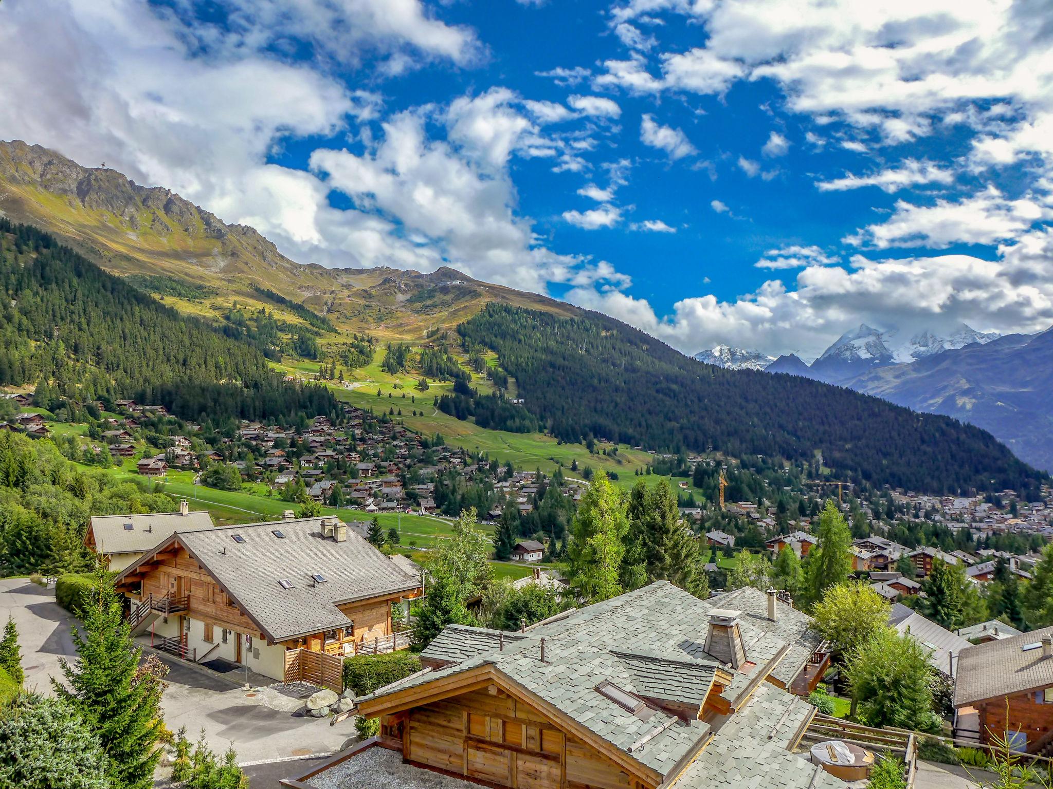
[[[65,684],[53,679],[52,687],[99,735],[114,786],[150,789],[161,757],[161,679],[167,669],[159,661],[140,668],[142,650],[132,642],[111,576],[99,575],[83,619],[84,635],[76,627],[72,633],[78,660],[59,661]]]

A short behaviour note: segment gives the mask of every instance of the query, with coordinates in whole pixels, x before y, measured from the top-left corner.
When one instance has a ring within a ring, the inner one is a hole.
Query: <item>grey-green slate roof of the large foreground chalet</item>
[[[750,662],[743,671],[719,666],[703,651],[710,611],[732,604],[742,611],[740,629]],[[704,747],[699,761],[708,767],[700,768],[696,761],[676,782],[678,787],[758,786],[750,778],[763,774],[779,782],[766,778],[766,787],[833,789],[831,782],[836,780],[828,781],[826,774],[816,778],[811,765],[786,751],[811,720],[814,708],[774,685],[756,686],[773,659],[782,655],[778,668],[791,653],[802,650],[806,660],[811,653],[813,635],[808,630],[808,616],[779,605],[780,614],[786,615],[772,623],[767,620],[767,595],[755,589],[700,601],[658,582],[523,633],[505,633],[501,651],[497,651],[498,631],[452,625],[422,656],[459,662],[406,677],[359,699],[359,703],[490,666],[508,682],[551,703],[662,775],[670,775],[681,760]],[[768,626],[753,613],[761,606]],[[803,641],[804,646],[783,641],[780,634]],[[634,714],[597,690],[602,683],[613,683],[638,696],[701,704],[718,669],[733,676],[723,693],[733,712],[712,724],[698,720],[682,723],[660,709]],[[752,691],[748,699],[747,690]],[[709,743],[717,727],[716,737]],[[726,771],[715,769],[717,764]],[[731,775],[744,783],[736,783]]]

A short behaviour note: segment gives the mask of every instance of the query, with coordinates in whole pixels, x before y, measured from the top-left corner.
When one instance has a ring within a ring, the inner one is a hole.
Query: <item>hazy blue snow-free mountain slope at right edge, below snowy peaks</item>
[[[982,427],[1017,457],[1053,471],[1053,329],[947,350],[873,370],[847,385]]]

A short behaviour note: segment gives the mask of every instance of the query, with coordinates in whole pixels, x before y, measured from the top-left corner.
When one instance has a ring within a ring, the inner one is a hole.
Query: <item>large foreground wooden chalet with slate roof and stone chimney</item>
[[[282,784],[434,783],[417,769],[515,789],[838,789],[792,752],[815,715],[782,689],[800,645],[727,598],[658,582],[521,632],[451,625],[429,668],[357,700],[379,737]]]

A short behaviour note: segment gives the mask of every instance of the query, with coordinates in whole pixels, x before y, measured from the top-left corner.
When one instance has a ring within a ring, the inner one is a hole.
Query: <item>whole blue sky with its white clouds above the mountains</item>
[[[1053,323],[1051,31],[1036,0],[7,0],[0,137],[300,262],[812,357]]]

